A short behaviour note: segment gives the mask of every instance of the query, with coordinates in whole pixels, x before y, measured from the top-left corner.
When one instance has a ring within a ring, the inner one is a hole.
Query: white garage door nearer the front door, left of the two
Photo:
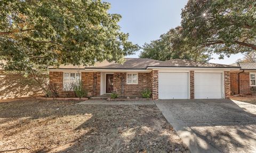
[[[159,73],[159,99],[188,99],[188,73]]]

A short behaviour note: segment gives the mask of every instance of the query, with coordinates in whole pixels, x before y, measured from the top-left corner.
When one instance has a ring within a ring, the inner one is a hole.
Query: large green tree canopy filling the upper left
[[[123,62],[138,50],[120,31],[119,14],[100,0],[2,0],[0,61],[27,74],[48,66]]]

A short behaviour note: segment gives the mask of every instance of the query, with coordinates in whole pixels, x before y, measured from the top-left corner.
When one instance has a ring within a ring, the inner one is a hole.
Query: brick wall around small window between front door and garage
[[[142,90],[151,90],[150,73],[138,73],[138,84],[126,84],[126,73],[114,73],[113,91],[119,95],[141,95]]]

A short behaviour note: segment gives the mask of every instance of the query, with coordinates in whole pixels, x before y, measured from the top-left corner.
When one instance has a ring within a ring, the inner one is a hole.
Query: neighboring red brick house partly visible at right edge
[[[231,94],[251,94],[251,88],[256,86],[256,63],[233,63],[231,66],[241,67],[230,72]]]

